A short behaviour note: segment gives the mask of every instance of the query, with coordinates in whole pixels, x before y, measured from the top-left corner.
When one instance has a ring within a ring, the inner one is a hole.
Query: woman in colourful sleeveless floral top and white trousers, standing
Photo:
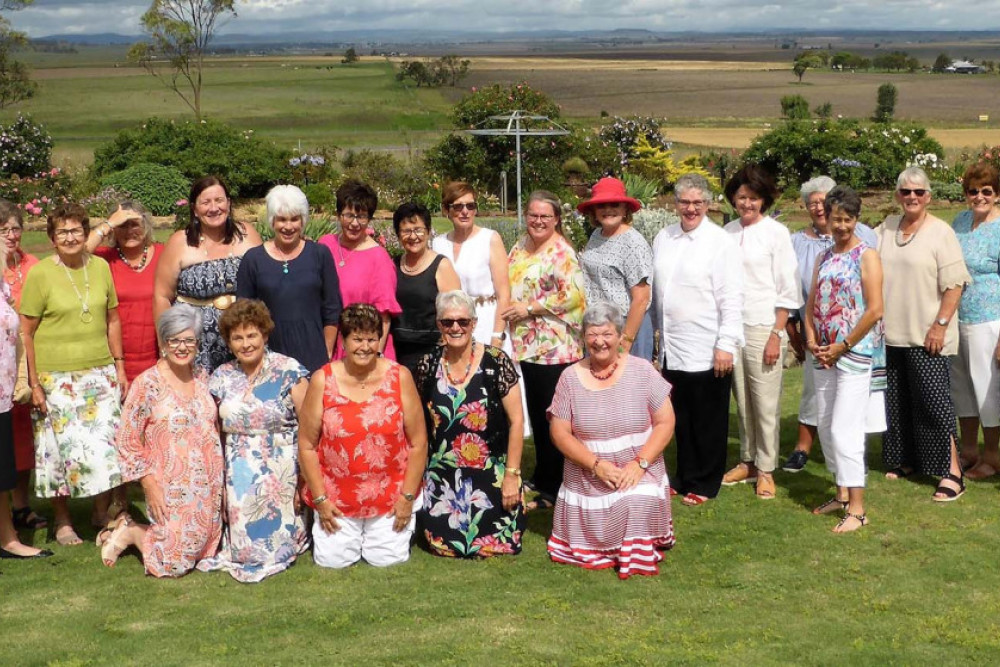
[[[878,251],[854,235],[861,197],[847,187],[830,191],[824,203],[833,247],[816,262],[806,308],[806,345],[815,357],[820,442],[837,495],[814,514],[844,510],[833,529],[857,530],[868,523],[864,508],[865,420],[873,359],[882,337],[882,263]]]

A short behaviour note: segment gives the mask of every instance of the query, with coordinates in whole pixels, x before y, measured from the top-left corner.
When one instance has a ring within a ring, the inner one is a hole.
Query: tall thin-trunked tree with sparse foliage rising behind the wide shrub
[[[153,0],[142,15],[150,41],[133,44],[128,58],[177,93],[201,120],[205,52],[220,20],[236,16],[235,0]]]

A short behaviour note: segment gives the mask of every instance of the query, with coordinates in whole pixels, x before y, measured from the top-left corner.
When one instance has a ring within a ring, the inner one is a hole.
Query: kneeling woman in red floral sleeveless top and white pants
[[[378,354],[375,306],[348,306],[338,329],[344,358],[313,374],[300,418],[305,500],[317,513],[313,559],[395,565],[410,557],[427,462],[420,397],[410,371]]]

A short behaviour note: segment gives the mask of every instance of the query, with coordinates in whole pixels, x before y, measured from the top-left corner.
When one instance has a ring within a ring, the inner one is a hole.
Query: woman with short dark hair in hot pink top
[[[319,242],[330,249],[340,280],[340,302],[346,308],[355,303],[369,303],[382,317],[378,351],[387,359],[396,359],[389,324],[402,309],[396,301],[396,267],[385,248],[372,238],[369,230],[378,209],[378,195],[367,183],[348,180],[337,188],[337,218],[340,233],[327,234]],[[334,359],[344,358],[344,346],[338,343]]]

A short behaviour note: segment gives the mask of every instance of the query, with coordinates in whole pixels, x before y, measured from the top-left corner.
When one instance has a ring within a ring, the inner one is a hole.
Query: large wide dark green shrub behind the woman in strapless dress
[[[289,151],[214,120],[175,123],[151,118],[122,130],[94,151],[93,173],[103,177],[139,162],[176,167],[190,181],[221,176],[234,197],[261,197],[289,178]]]

